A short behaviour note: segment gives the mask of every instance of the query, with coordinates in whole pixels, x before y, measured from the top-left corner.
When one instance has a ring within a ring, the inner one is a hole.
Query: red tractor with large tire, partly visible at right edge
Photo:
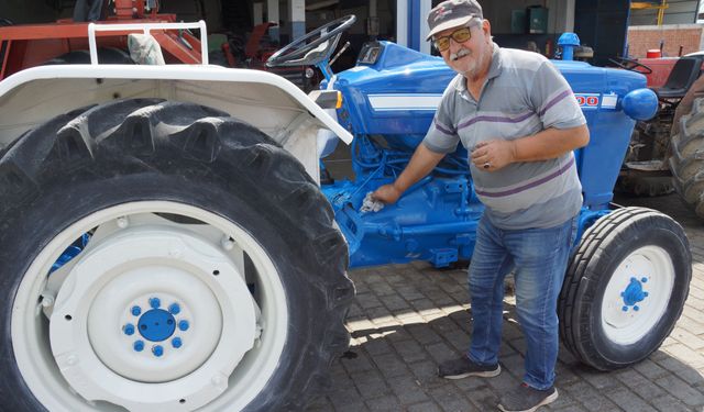
[[[651,59],[652,60],[652,59]],[[614,60],[619,67],[654,74],[646,62]],[[672,70],[660,87],[651,87],[659,100],[657,115],[636,125],[619,189],[638,196],[660,196],[676,190],[700,218],[704,218],[704,124],[700,101],[704,85],[697,82],[704,56],[692,54],[673,59]],[[680,105],[681,102],[684,104]]]

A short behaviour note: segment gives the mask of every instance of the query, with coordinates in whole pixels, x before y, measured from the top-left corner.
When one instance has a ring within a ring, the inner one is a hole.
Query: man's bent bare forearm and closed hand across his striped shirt
[[[493,171],[512,163],[557,158],[586,146],[588,142],[590,131],[585,124],[570,129],[550,127],[532,136],[514,141],[481,142],[474,147],[471,158],[474,166]],[[484,167],[487,164],[490,167]]]

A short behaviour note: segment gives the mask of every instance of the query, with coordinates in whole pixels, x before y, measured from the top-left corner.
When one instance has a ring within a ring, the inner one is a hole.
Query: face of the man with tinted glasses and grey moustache
[[[486,60],[486,47],[488,46],[488,23],[484,21],[483,24],[472,24],[470,32],[472,36],[465,42],[458,43],[452,38],[452,33],[463,26],[452,27],[444,30],[433,37],[440,38],[443,36],[450,36],[450,47],[447,51],[440,52],[440,55],[444,62],[454,71],[458,71],[466,78],[474,78],[479,75]]]

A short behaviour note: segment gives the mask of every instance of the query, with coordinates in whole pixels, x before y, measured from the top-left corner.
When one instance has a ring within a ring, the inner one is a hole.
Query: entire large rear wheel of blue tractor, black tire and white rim
[[[328,202],[226,113],[61,115],[0,159],[0,199],[3,410],[299,410],[349,344]]]

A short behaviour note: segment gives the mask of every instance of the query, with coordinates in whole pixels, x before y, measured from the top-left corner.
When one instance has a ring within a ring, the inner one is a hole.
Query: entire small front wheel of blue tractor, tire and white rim
[[[560,337],[600,370],[635,364],[670,334],[682,313],[692,255],[671,218],[624,208],[582,237],[560,293]]]

